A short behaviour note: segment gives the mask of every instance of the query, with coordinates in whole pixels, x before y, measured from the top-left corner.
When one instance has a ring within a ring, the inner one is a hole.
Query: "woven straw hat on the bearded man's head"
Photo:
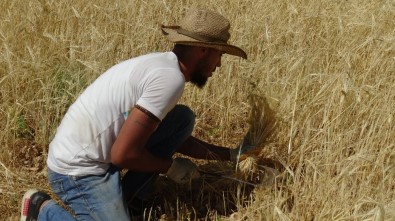
[[[228,44],[229,28],[229,20],[222,15],[209,10],[191,9],[179,26],[162,25],[162,32],[173,43],[215,48],[247,59],[241,48]]]

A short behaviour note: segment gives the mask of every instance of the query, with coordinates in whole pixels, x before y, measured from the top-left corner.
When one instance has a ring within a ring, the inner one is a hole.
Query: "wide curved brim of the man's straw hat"
[[[189,36],[178,33],[175,28],[162,27],[162,32],[169,41],[176,44],[214,48],[226,54],[235,55],[247,59],[247,54],[243,51],[243,49],[234,45],[218,42],[199,41]]]

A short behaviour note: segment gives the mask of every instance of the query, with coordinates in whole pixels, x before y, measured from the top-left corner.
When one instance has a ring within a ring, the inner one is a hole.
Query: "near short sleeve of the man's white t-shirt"
[[[142,95],[137,105],[163,120],[181,98],[185,80],[179,71],[159,69],[147,75],[140,86]]]

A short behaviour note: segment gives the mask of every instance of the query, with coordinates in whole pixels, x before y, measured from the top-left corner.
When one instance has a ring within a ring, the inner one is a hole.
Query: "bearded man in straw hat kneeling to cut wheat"
[[[121,62],[70,106],[49,145],[48,179],[74,216],[48,194],[29,190],[21,220],[130,220],[126,200],[144,200],[158,174],[177,183],[198,178],[198,159],[232,160],[236,149],[193,136],[195,116],[177,105],[185,82],[203,87],[224,53],[246,58],[227,43],[229,21],[192,9],[179,26],[162,26],[171,52]],[[120,169],[128,169],[121,178]]]

